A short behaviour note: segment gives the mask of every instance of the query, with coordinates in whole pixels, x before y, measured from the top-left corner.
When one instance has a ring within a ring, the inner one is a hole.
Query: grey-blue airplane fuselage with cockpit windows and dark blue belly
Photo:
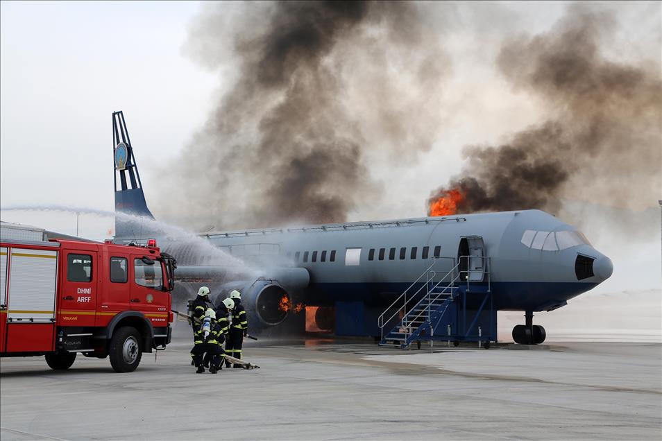
[[[482,238],[482,253],[489,257],[484,270],[489,275],[479,283],[487,284],[489,279],[495,309],[555,309],[603,282],[613,270],[609,257],[595,250],[575,227],[539,210],[204,236],[238,257],[260,261],[261,250],[269,250],[268,254],[275,252],[284,259],[285,266],[305,268],[309,273],[305,302],[316,305],[360,301],[386,306],[425,272],[435,249],[443,270],[450,270],[460,255],[468,254],[463,238]],[[424,247],[427,258],[422,255]],[[264,277],[269,277],[269,270],[264,270]]]

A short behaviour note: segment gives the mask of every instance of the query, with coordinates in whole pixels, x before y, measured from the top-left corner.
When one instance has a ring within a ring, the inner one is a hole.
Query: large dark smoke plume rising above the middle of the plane
[[[202,8],[187,51],[212,69],[239,69],[221,70],[223,83],[235,78],[232,86],[178,161],[183,174],[169,197],[186,214],[181,221],[226,228],[343,221],[380,193],[368,154],[409,162],[432,146],[449,63],[439,24],[426,18],[430,6]]]

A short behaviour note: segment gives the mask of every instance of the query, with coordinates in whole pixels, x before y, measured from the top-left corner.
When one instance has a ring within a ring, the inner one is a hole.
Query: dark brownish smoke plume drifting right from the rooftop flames
[[[613,17],[573,4],[548,33],[517,35],[498,67],[518,92],[543,103],[547,119],[504,144],[470,146],[461,174],[430,202],[458,189],[460,213],[538,208],[563,199],[641,207],[661,189],[662,86],[657,62],[612,61]]]

